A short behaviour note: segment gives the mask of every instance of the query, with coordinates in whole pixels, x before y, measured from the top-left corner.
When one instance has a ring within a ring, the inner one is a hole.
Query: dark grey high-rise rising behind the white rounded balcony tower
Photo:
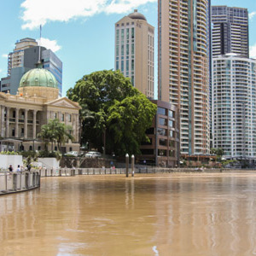
[[[212,56],[236,53],[249,57],[248,11],[212,6]]]

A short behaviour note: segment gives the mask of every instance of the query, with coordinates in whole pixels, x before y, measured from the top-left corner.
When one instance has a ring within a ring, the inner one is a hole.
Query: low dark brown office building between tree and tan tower
[[[179,163],[179,114],[177,108],[167,102],[152,100],[157,113],[152,127],[147,131],[149,143],[141,145],[142,155],[137,160],[143,165],[174,167]]]

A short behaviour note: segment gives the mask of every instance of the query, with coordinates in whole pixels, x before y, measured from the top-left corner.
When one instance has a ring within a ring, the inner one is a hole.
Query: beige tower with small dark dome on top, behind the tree
[[[115,23],[115,70],[137,90],[154,98],[154,26],[134,10]]]

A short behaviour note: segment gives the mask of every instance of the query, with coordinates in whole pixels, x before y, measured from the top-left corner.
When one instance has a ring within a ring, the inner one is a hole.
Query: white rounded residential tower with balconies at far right
[[[213,148],[226,159],[256,160],[256,61],[236,54],[212,60]]]

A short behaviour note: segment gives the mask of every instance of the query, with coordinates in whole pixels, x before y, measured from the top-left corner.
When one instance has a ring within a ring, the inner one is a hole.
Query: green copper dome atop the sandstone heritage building
[[[20,79],[20,87],[41,86],[58,89],[55,76],[44,68],[33,68],[26,72]]]

